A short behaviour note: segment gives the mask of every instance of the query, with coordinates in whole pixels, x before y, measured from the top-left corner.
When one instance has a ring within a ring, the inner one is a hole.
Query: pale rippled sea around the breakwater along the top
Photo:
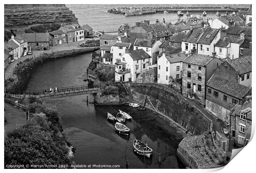
[[[75,16],[78,18],[80,25],[88,24],[92,27],[94,31],[104,31],[104,32],[118,32],[119,27],[123,23],[128,23],[130,25],[135,25],[135,22],[144,21],[144,19],[149,19],[150,23],[156,23],[156,19],[160,22],[165,19],[166,23],[171,22],[174,24],[178,21],[177,12],[164,13],[158,12],[155,14],[144,14],[142,16],[125,16],[123,14],[112,14],[108,13],[107,10],[115,7],[174,7],[174,6],[187,6],[187,7],[235,7],[235,8],[249,8],[249,4],[66,4]],[[186,11],[184,10],[185,14]],[[202,13],[202,12],[201,12]],[[192,12],[194,16],[197,16],[198,12]],[[215,19],[218,16],[215,15],[216,12],[207,12],[206,17]],[[186,20],[186,15],[183,16],[183,20]]]

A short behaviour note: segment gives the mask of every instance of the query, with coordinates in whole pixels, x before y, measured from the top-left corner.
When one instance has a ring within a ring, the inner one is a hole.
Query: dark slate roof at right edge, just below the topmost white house
[[[240,38],[242,33],[244,33],[244,38],[251,39],[251,26],[232,25],[226,30],[228,37]]]

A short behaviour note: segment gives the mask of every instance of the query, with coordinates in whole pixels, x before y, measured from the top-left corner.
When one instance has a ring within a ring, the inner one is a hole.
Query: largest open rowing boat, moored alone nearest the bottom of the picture
[[[133,141],[133,151],[136,152],[138,155],[144,155],[148,158],[152,155],[153,150],[147,146],[146,143],[135,139]]]

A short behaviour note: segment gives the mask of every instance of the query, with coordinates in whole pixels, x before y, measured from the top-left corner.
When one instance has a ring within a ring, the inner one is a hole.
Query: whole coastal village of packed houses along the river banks
[[[216,168],[225,165],[232,149],[244,147],[251,137],[251,23],[252,7],[241,14],[205,21],[195,16],[183,21],[177,16],[177,22],[171,23],[164,18],[149,21],[145,16],[144,21],[120,23],[117,34],[94,32],[90,23],[62,23],[50,32],[11,35],[4,43],[5,71],[15,68],[21,59],[36,58],[38,52],[99,49],[92,53],[92,62],[114,74],[108,83],[126,85],[130,104],[150,107],[190,134],[180,142],[176,154],[183,164],[187,168]],[[17,76],[5,74],[8,78],[15,80]],[[93,70],[88,71],[87,80],[103,82]],[[144,92],[154,92],[150,88],[166,93],[154,103],[166,97],[175,104],[177,100],[191,104],[187,109],[197,113],[198,124],[185,120],[196,118],[182,117],[180,112],[176,115],[178,111],[172,115],[174,108],[163,111],[146,101],[150,95]]]

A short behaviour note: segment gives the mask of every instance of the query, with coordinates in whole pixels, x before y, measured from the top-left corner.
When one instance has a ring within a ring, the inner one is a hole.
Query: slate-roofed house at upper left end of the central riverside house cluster
[[[105,53],[111,53],[111,46],[118,40],[118,35],[108,35],[103,34],[100,37],[100,50],[101,50],[101,57]]]

